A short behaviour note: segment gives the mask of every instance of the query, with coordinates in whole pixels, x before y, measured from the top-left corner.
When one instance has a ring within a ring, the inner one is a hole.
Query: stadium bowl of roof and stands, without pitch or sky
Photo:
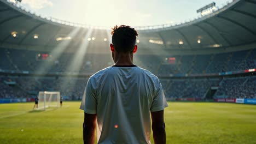
[[[179,25],[137,27],[135,64],[159,76],[168,100],[256,98],[256,1],[233,1]],[[86,80],[113,64],[110,28],[43,17],[0,0],[0,98],[39,91],[80,99]]]

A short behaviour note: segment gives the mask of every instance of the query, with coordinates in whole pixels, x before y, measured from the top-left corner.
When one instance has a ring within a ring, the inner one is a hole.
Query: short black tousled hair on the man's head
[[[114,26],[112,28],[112,44],[117,52],[133,52],[137,31],[130,26]]]

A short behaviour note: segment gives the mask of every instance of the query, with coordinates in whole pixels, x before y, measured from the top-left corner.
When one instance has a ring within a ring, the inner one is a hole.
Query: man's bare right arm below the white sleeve
[[[165,122],[164,122],[164,110],[151,112],[152,118],[152,130],[155,144],[165,144]]]

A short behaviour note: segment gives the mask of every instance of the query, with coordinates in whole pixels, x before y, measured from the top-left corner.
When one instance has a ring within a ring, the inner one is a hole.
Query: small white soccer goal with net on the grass
[[[38,109],[60,107],[60,92],[39,92]]]

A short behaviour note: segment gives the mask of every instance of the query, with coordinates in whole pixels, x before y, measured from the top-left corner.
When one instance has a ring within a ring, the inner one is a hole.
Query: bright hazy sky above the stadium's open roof
[[[231,0],[214,0],[222,8]],[[22,0],[31,11],[91,26],[154,26],[193,20],[211,0]]]

